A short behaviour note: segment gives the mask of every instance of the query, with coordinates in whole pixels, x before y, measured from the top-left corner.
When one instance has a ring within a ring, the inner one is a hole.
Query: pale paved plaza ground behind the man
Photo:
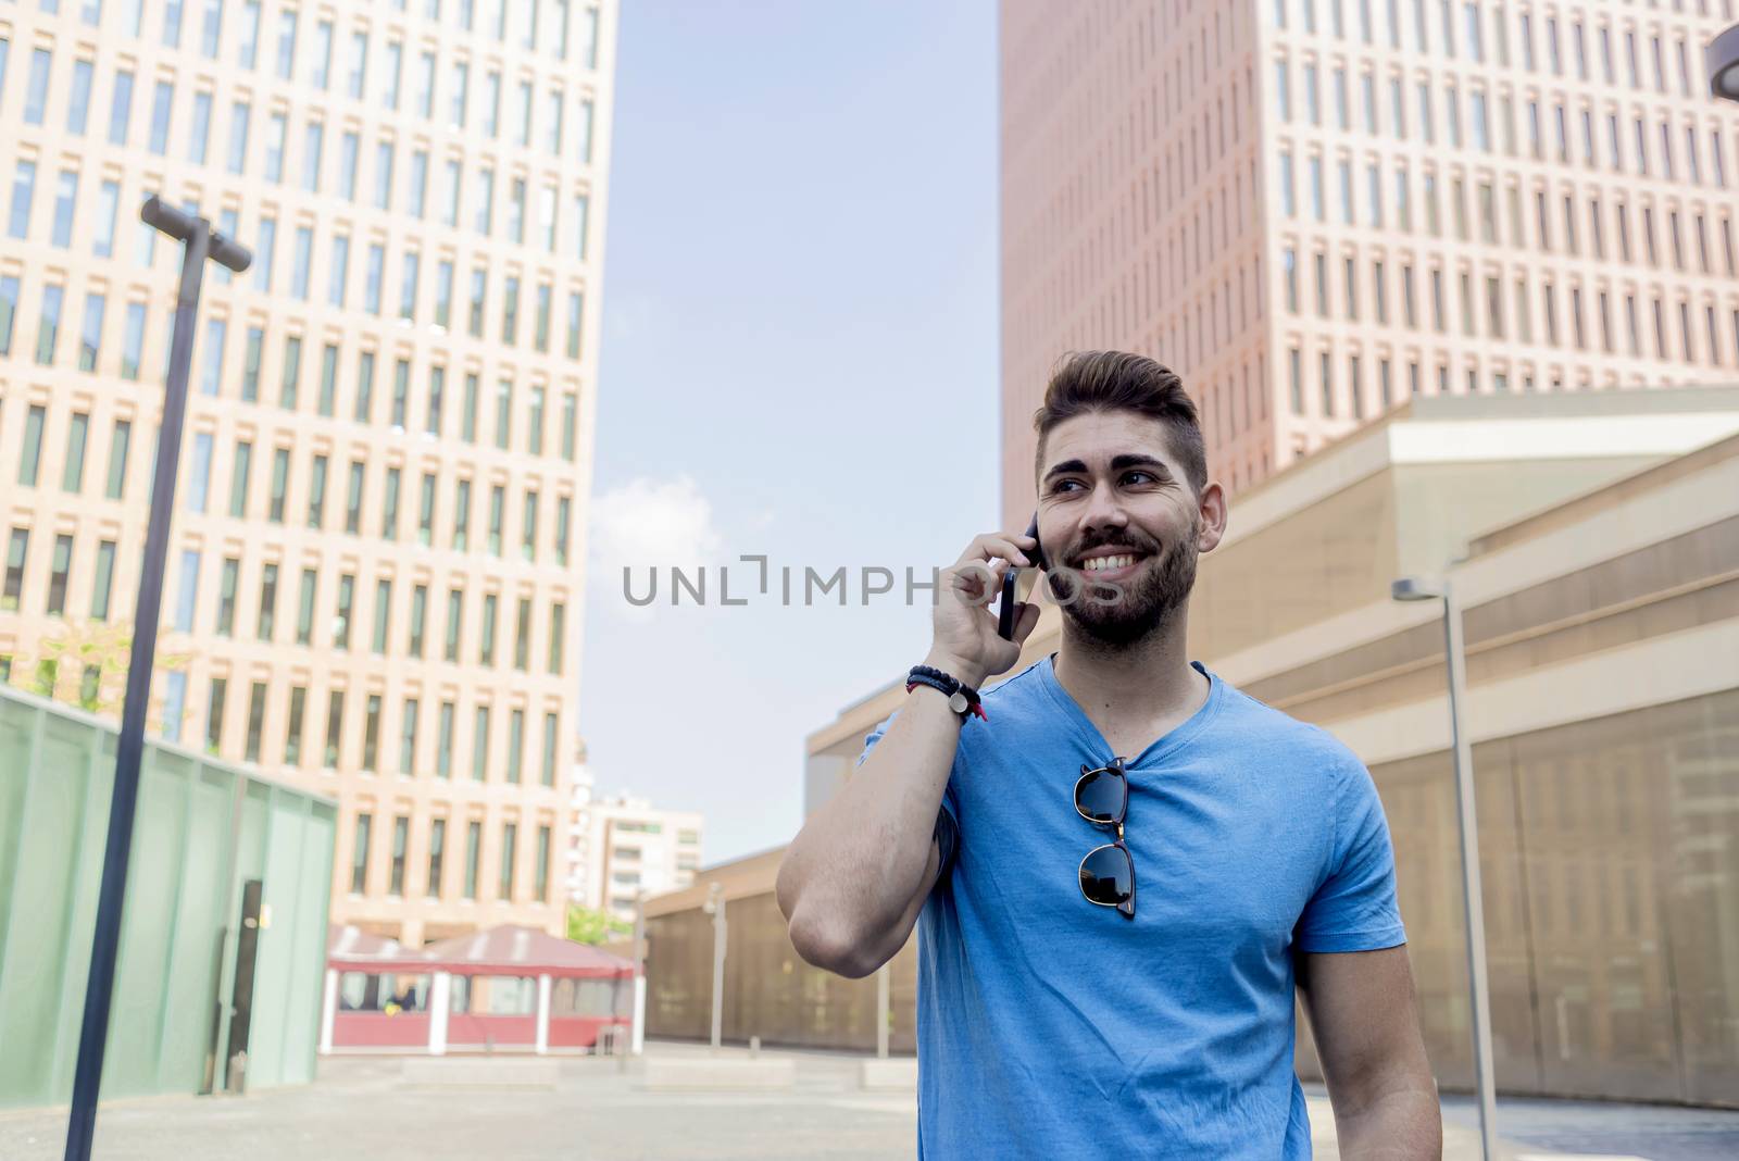
[[[690,1045],[649,1045],[647,1052],[661,1058],[708,1055]],[[762,1057],[791,1058],[795,1085],[784,1091],[649,1091],[640,1088],[638,1071],[623,1072],[614,1060],[565,1058],[553,1090],[417,1088],[405,1083],[402,1060],[341,1057],[322,1060],[318,1081],[303,1088],[245,1098],[106,1104],[97,1118],[96,1156],[108,1161],[870,1161],[915,1154],[913,1098],[864,1091],[861,1057],[784,1052]],[[1739,1156],[1739,1112],[1506,1102],[1502,1114],[1508,1161],[1534,1156],[1562,1161],[1569,1152],[1649,1161]],[[1334,1121],[1320,1090],[1311,1090],[1311,1125],[1316,1156],[1336,1158]],[[64,1131],[64,1109],[0,1112],[0,1158],[59,1158]],[[1459,1098],[1447,1102],[1443,1156],[1478,1158],[1473,1111]]]

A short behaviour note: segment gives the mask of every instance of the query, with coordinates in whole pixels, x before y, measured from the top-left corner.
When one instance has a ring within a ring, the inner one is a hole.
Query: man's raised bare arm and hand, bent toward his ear
[[[1005,568],[998,565],[1026,561],[1021,542],[1031,544],[984,534],[944,574],[925,664],[979,687],[1019,659],[1038,607],[1021,610],[1014,640],[1005,641],[984,605]],[[776,897],[791,944],[809,963],[863,977],[904,945],[941,871],[936,817],[960,730],[948,699],[918,687],[840,793],[791,839]]]

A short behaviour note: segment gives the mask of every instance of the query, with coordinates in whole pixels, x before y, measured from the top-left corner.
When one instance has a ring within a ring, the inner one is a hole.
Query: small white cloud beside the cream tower
[[[668,600],[670,570],[716,567],[723,560],[723,537],[713,525],[713,502],[690,476],[642,476],[593,499],[590,558],[593,607],[647,620],[663,601],[630,603],[623,568],[630,570],[635,594],[647,593],[656,568],[659,596]]]

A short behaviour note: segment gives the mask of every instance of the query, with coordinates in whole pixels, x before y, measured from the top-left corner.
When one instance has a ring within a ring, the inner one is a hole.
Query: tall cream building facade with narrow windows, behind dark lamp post
[[[336,798],[332,918],[410,945],[562,923],[614,30],[612,0],[0,10],[0,673],[122,681],[42,662],[132,617],[157,193],[254,262],[205,273],[153,720]]]

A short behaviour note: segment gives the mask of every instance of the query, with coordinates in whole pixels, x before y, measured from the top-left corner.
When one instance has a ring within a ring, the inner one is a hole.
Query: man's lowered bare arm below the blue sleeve
[[[1443,1156],[1436,1083],[1407,947],[1299,956],[1299,991],[1334,1104],[1341,1158]]]

